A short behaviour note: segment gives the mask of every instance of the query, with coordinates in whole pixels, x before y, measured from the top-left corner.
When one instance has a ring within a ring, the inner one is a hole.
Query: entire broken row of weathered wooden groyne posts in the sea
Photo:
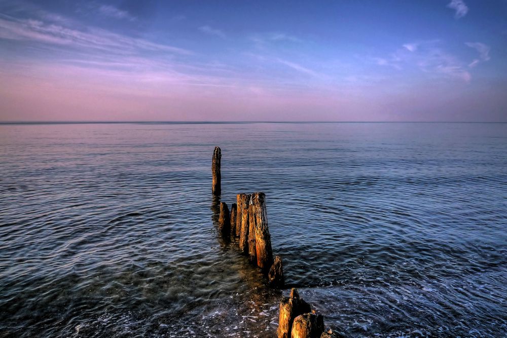
[[[215,146],[211,164],[213,175],[212,192],[220,196],[221,187],[220,147]],[[225,202],[220,202],[219,232],[225,237],[238,239],[239,250],[267,277],[270,285],[281,287],[284,284],[282,259],[273,258],[271,235],[266,210],[266,195],[262,192],[237,194],[236,203],[231,210]],[[279,308],[278,338],[338,338],[342,335],[329,330],[324,332],[324,318],[315,313],[292,288],[289,297],[282,297]]]

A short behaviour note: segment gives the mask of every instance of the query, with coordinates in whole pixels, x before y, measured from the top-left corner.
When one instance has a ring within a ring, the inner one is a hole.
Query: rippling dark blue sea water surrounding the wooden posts
[[[327,326],[507,336],[507,124],[408,123],[0,125],[0,336],[273,336],[215,145]]]

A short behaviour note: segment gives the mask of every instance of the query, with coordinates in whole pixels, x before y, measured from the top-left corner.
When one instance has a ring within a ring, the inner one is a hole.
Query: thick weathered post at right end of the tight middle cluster
[[[271,248],[271,235],[268,228],[268,213],[266,211],[266,195],[253,193],[251,197],[252,212],[255,215],[255,246],[257,266],[265,273],[273,265],[273,250]]]

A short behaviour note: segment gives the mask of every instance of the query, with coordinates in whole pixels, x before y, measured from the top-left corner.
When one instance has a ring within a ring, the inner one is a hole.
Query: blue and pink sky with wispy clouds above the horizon
[[[0,121],[507,122],[507,0],[0,0]]]

